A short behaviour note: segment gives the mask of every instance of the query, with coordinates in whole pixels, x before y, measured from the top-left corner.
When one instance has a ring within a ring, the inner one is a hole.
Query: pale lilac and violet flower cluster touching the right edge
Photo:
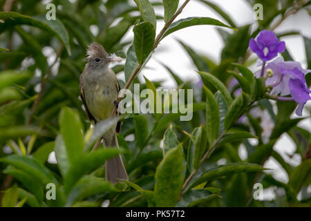
[[[267,64],[265,74],[268,70],[272,70],[273,73],[273,76],[268,77],[266,80],[266,85],[273,87],[271,94],[292,95],[292,99],[299,104],[296,115],[301,116],[303,106],[311,99],[311,90],[309,90],[305,82],[305,75],[310,73],[311,70],[304,70],[299,62],[283,61],[282,58],[277,58]],[[256,73],[256,76],[259,77],[260,72]],[[281,97],[279,99],[285,100],[290,99],[290,97]]]

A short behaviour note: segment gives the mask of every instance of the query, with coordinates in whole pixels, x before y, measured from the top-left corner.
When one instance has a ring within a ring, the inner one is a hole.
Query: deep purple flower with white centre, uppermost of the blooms
[[[250,39],[249,48],[263,61],[270,61],[285,50],[285,42],[279,41],[274,32],[262,30],[257,39]]]

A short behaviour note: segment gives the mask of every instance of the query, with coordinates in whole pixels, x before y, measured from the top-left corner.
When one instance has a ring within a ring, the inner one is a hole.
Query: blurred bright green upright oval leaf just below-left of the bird
[[[83,151],[82,122],[77,111],[64,107],[59,113],[60,133],[71,165],[79,161]]]

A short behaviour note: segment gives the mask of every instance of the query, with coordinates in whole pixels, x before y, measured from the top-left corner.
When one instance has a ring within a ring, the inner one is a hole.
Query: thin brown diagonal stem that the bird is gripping
[[[185,6],[187,6],[187,3],[189,3],[189,1],[190,0],[186,0],[182,4],[182,6],[180,6],[180,8],[177,10],[177,12],[173,15],[173,17],[167,23],[165,23],[164,27],[162,28],[160,33],[157,35],[157,37],[156,37],[156,39],[154,41],[152,50],[154,50],[154,49],[156,49],[158,47],[158,44],[160,43],[164,33],[167,31],[167,28],[169,28],[171,23],[173,23],[174,19],[176,19],[176,17],[182,12],[182,10],[185,8]],[[129,86],[131,86],[133,79],[135,79],[136,75],[138,75],[138,73],[140,72],[140,68],[142,68],[142,64],[138,64],[138,66],[136,66],[135,70],[133,70],[133,73],[131,73],[131,76],[129,77],[129,80],[126,82],[126,84],[125,84],[123,89],[128,89]],[[118,102],[121,102],[121,100],[124,97],[124,94],[125,94],[125,90],[123,91],[123,93],[121,93],[117,97],[117,101]],[[117,107],[116,106],[113,109],[113,112],[111,113],[110,117],[113,117],[115,115],[115,113],[117,113]]]

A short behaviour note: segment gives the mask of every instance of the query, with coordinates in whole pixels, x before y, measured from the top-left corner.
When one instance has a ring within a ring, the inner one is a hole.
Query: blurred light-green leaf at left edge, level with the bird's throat
[[[31,73],[28,71],[4,70],[0,73],[0,89],[12,84],[19,84],[30,77]]]

